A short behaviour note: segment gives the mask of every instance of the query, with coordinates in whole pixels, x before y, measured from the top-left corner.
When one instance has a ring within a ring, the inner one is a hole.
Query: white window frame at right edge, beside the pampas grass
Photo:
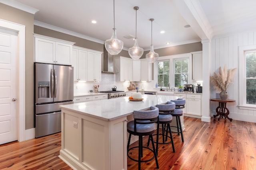
[[[256,51],[256,45],[239,47],[239,109],[256,110],[256,104],[246,103],[246,52]]]

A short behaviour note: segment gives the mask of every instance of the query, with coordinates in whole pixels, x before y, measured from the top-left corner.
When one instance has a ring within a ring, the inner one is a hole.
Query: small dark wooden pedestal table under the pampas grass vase
[[[230,121],[232,121],[233,119],[229,118],[229,110],[226,107],[226,103],[232,103],[235,102],[236,100],[231,100],[231,99],[227,99],[227,100],[221,100],[221,99],[210,99],[210,101],[213,102],[219,102],[219,106],[216,108],[216,113],[217,115],[213,115],[213,117],[218,117],[218,115],[220,115],[220,117],[223,118],[223,116],[225,117],[225,119],[229,119]],[[220,117],[218,117],[218,121],[220,121]]]

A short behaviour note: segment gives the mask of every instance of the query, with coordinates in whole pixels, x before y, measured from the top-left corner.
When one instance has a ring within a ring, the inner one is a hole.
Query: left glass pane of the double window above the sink
[[[170,61],[158,61],[158,84],[167,87],[169,83]]]

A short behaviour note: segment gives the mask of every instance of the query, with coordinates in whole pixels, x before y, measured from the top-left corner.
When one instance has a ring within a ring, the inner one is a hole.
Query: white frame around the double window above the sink
[[[170,61],[170,71],[169,71],[169,82],[170,87],[174,87],[174,59],[188,58],[188,84],[192,84],[192,53],[184,53],[178,55],[168,55],[163,57],[158,57],[157,62],[154,63],[154,84],[158,83],[158,61]],[[156,77],[156,78],[155,78]],[[164,87],[167,88],[167,87]]]

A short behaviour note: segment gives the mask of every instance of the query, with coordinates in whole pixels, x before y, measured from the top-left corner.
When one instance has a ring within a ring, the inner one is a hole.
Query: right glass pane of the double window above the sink
[[[175,87],[188,84],[188,59],[174,60],[174,85]]]

